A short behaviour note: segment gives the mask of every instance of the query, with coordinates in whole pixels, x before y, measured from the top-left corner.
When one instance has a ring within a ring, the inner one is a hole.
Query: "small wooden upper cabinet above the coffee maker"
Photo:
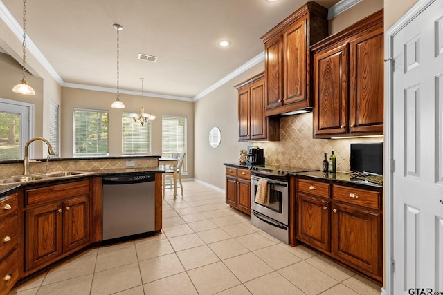
[[[238,90],[239,141],[280,140],[280,120],[264,116],[264,73],[235,88]]]

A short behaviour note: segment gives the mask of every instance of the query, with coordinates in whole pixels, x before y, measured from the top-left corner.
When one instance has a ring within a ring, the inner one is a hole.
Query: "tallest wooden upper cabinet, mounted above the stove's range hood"
[[[309,45],[327,36],[327,9],[308,2],[263,37],[266,116],[309,108]]]

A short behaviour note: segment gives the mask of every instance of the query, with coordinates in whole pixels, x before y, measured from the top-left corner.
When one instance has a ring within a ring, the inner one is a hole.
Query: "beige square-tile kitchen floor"
[[[224,193],[183,182],[168,190],[162,234],[83,251],[10,294],[371,295],[381,288],[306,247],[290,247],[224,203]]]

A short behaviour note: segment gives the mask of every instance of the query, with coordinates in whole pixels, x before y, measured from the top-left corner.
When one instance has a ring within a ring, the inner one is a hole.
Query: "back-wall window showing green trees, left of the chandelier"
[[[108,111],[73,110],[73,156],[106,156],[108,149]]]

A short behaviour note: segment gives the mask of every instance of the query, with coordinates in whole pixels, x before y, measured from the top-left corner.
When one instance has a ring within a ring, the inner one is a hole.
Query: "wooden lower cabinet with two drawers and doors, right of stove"
[[[296,239],[383,283],[381,188],[296,183]]]

